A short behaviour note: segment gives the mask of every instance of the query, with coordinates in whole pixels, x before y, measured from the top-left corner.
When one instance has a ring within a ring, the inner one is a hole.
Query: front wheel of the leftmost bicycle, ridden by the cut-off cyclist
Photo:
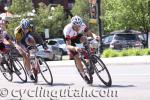
[[[14,72],[21,79],[22,82],[27,82],[27,74],[18,59],[13,60],[12,65],[14,67]]]

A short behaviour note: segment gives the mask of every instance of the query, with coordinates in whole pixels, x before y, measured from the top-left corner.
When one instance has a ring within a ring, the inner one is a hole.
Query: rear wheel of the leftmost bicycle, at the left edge
[[[3,69],[2,69],[3,67]],[[9,65],[8,64],[1,64],[1,68],[0,71],[2,73],[2,75],[8,80],[8,81],[12,81],[13,80],[13,75],[10,72],[10,70],[8,69]]]

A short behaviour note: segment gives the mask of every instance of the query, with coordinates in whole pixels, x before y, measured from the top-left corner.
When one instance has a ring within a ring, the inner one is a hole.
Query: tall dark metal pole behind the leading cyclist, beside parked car
[[[100,36],[100,50],[98,52],[102,53],[102,24],[101,24],[101,0],[97,0],[97,21],[98,21],[98,32]]]

